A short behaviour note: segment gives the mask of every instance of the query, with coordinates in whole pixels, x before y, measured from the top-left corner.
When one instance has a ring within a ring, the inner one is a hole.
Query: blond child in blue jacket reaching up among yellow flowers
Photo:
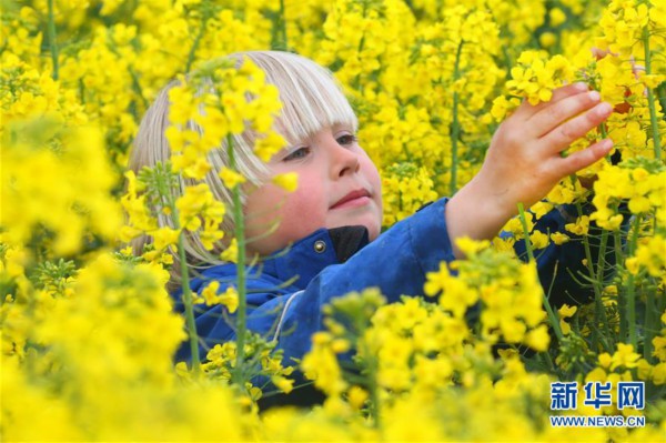
[[[259,66],[283,102],[276,128],[289,147],[271,159],[268,171],[252,154],[251,133],[235,137],[234,143],[239,169],[255,183],[244,188],[245,232],[254,239],[246,250],[263,256],[250,270],[248,325],[278,341],[285,364],[310,349],[311,334],[322,329],[321,309],[332,298],[369,286],[379,286],[389,302],[402,294],[422,294],[426,272],[437,270],[441,261],[462,256],[456,239],[493,239],[517,213],[517,203],[525,208],[536,203],[562,178],[602,159],[613,145],[603,140],[561,157],[612,112],[585,84],[563,87],[548,103],[524,102],[498,128],[481,171],[453,198],[436,201],[381,233],[380,175],[356,140],[356,117],[331,72],[286,52],[230,57],[239,66],[244,57]],[[135,171],[169,160],[168,112],[165,90],[141,124],[131,158]],[[211,155],[212,164],[224,164],[224,149]],[[266,180],[284,172],[299,174],[293,193]],[[215,171],[205,180],[213,193],[229,195]],[[275,221],[276,229],[266,232]],[[564,223],[563,215],[553,211],[538,225],[553,232]],[[191,265],[196,264],[196,242],[188,239]],[[557,261],[579,265],[578,248],[548,246],[538,261],[542,282],[551,284]],[[215,280],[224,291],[234,279],[235,265],[219,263],[203,270],[191,286],[200,292]],[[557,273],[555,293],[576,295],[574,291],[581,292],[576,286],[566,271]],[[234,338],[222,310],[216,305],[196,313],[202,352]],[[178,359],[189,359],[188,346],[182,346]]]

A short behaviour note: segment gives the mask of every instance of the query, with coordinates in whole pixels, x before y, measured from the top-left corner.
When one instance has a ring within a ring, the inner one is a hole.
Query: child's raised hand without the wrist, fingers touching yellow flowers
[[[561,155],[612,110],[609,103],[599,102],[598,92],[579,83],[557,89],[547,103],[523,102],[495,132],[478,178],[488,182],[496,204],[509,212],[516,211],[517,203],[531,207],[561,179],[610,151],[613,142],[603,140],[569,157]]]

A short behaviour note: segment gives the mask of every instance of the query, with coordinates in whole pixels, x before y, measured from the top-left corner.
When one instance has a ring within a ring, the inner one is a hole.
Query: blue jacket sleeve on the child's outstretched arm
[[[310,349],[310,336],[322,329],[322,306],[332,298],[379,288],[395,302],[401,295],[423,293],[426,272],[454,260],[440,200],[396,223],[344,264],[327,266],[307,288],[290,299],[281,319],[279,344],[285,361]]]

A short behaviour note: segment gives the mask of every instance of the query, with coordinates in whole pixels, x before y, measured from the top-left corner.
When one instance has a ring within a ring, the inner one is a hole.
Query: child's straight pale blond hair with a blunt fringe
[[[265,73],[266,83],[274,84],[278,88],[282,110],[274,122],[274,130],[281,133],[290,145],[301,143],[322,128],[340,123],[350,125],[356,131],[356,115],[342,92],[340,83],[333,78],[330,70],[316,64],[314,61],[281,51],[238,52],[226,58],[234,61],[236,68],[243,63],[244,58],[250,59]],[[165,137],[165,131],[170,125],[169,91],[179,84],[179,81],[169,83],[158,94],[141,121],[129,161],[129,168],[135,173],[144,167],[165,163],[171,158],[171,149]],[[186,128],[200,134],[203,132],[203,129],[194,121],[188,122]],[[253,153],[256,138],[258,134],[248,129],[239,135],[233,135],[232,142],[239,172],[252,184],[261,185],[269,177],[269,170]],[[229,164],[226,140],[219,149],[214,149],[209,153],[209,162],[213,169],[205,175],[203,181],[209,185],[215,199],[231,208],[231,192],[218,175],[218,172]],[[174,197],[182,195],[184,187],[193,183],[194,181],[181,177],[179,189],[174,190],[176,194]],[[243,195],[243,201],[245,195]],[[171,220],[165,215],[159,215],[159,224],[160,226],[171,225]],[[233,233],[234,220],[231,217],[231,211],[226,211],[221,228],[228,234]],[[141,254],[143,248],[151,242],[152,239],[149,236],[137,239],[133,242],[134,253]],[[220,244],[216,248],[221,249],[223,245]],[[196,234],[188,233],[185,235],[184,251],[190,268],[208,268],[221,263],[215,259],[216,254],[211,254],[203,246]],[[179,268],[179,258],[174,254],[171,289],[180,284]]]

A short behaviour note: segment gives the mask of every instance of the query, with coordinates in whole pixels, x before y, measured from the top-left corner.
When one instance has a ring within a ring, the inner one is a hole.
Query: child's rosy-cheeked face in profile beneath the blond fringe
[[[296,172],[299,188],[286,192],[269,182],[248,194],[246,238],[251,253],[269,254],[320,228],[363,225],[374,240],[382,225],[377,169],[351,128],[324,128],[269,162],[273,174]],[[275,222],[278,229],[266,232]]]

